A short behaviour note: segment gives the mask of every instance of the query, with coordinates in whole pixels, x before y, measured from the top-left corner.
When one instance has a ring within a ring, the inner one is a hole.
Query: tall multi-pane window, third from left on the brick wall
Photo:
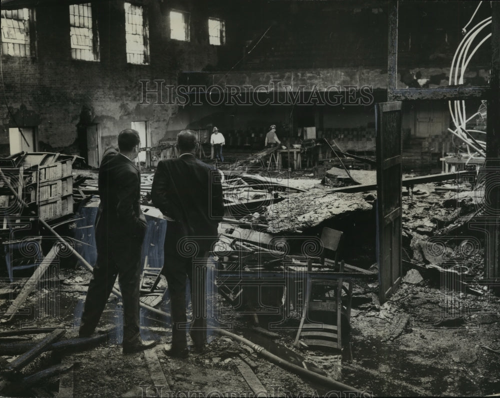
[[[126,62],[148,64],[147,19],[142,7],[125,3]]]

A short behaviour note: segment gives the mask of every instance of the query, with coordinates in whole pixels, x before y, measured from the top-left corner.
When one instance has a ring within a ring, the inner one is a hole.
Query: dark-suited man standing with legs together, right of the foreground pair
[[[220,174],[194,156],[196,135],[177,135],[178,159],[158,163],[151,199],[167,217],[163,273],[170,294],[172,345],[170,356],[188,355],[186,340],[186,276],[191,287],[192,321],[189,334],[197,352],[206,342],[205,272],[208,251],[217,239],[224,215]]]

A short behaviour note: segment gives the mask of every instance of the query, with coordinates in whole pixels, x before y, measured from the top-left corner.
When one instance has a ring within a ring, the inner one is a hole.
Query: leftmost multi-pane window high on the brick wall
[[[31,55],[29,10],[1,10],[1,52],[14,57]]]

